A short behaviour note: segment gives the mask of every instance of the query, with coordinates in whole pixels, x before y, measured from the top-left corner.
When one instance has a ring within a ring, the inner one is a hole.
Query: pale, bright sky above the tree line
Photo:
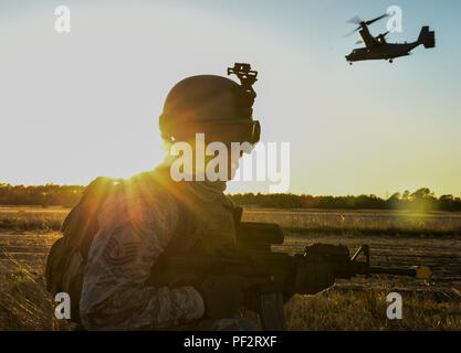
[[[71,10],[70,33],[54,30],[57,6]],[[430,25],[437,46],[349,66],[359,38],[344,36],[346,21],[390,6],[402,10],[402,32],[388,42]],[[151,170],[165,156],[158,116],[169,89],[247,62],[259,72],[261,142],[290,143],[289,192],[461,195],[460,10],[455,0],[2,1],[0,182],[87,184]],[[233,181],[228,192],[271,183]]]

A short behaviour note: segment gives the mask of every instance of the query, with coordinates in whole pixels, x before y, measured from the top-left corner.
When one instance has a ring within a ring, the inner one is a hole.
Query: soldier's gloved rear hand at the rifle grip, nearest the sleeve
[[[207,276],[197,290],[203,298],[207,318],[232,318],[243,303],[240,285],[230,276]]]

